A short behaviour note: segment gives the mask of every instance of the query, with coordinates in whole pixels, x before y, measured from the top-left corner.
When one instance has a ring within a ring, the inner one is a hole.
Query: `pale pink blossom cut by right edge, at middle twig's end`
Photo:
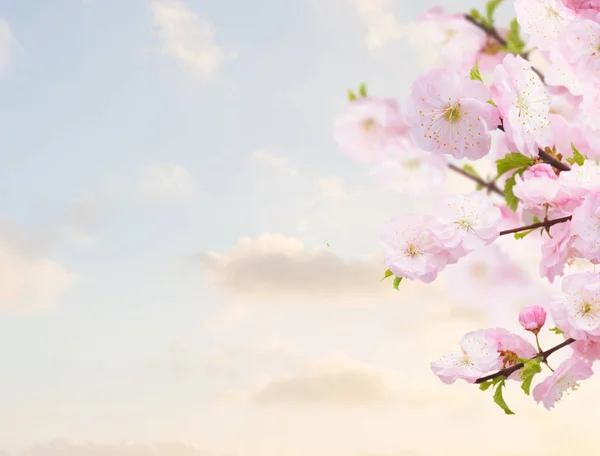
[[[600,263],[600,192],[585,197],[573,211],[571,232],[577,236],[575,248],[584,258]]]

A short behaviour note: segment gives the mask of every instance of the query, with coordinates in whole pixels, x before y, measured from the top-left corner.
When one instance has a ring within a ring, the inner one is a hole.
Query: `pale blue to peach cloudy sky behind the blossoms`
[[[595,448],[593,380],[551,414],[513,388],[506,417],[430,371],[538,295],[490,315],[380,281],[381,226],[426,203],[332,123],[361,82],[402,100],[431,6],[0,0],[1,456]]]

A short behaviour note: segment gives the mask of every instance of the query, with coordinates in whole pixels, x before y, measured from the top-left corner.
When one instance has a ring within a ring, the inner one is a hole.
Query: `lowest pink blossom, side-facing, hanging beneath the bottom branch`
[[[544,407],[550,410],[559,402],[565,391],[575,391],[581,380],[586,380],[594,374],[590,365],[579,357],[572,357],[564,361],[542,383],[533,389],[533,398],[537,403],[543,402]]]

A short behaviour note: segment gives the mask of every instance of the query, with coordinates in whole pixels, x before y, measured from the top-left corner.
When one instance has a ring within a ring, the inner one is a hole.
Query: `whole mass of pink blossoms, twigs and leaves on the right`
[[[431,365],[444,383],[495,388],[509,413],[505,380],[529,394],[549,356],[569,352],[533,388],[550,409],[600,360],[600,273],[569,273],[575,260],[590,269],[600,263],[600,0],[514,0],[507,27],[495,24],[501,3],[490,0],[485,15],[425,12],[417,29],[438,49],[439,65],[402,103],[369,95],[364,85],[349,92],[334,137],[398,193],[439,195],[450,172],[477,184],[384,227],[385,276],[395,276],[396,287],[403,279],[431,283],[501,237],[514,235],[518,249],[538,233],[540,280],[562,292],[522,309],[518,321],[535,346],[506,329],[480,329]],[[496,174],[484,179],[475,166],[486,160]],[[563,341],[544,351],[538,335],[547,315]]]

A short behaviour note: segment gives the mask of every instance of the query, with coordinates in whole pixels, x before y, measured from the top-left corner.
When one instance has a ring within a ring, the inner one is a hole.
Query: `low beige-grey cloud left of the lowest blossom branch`
[[[392,372],[335,356],[267,383],[252,394],[252,400],[261,405],[363,405],[391,399],[394,394]]]

